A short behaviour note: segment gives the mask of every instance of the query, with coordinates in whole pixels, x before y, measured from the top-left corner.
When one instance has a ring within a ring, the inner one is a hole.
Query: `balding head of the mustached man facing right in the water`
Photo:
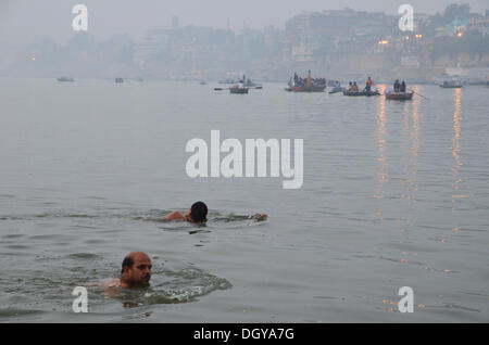
[[[122,264],[121,288],[148,286],[151,279],[151,259],[142,252],[126,255]]]

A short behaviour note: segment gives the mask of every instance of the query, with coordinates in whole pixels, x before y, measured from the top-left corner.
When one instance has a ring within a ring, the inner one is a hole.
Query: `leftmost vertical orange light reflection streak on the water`
[[[380,94],[384,94],[384,91],[386,89],[385,85],[379,85],[379,92]],[[378,149],[378,157],[377,162],[380,163],[379,169],[377,171],[377,189],[375,191],[374,197],[376,199],[383,199],[384,197],[384,189],[383,184],[384,182],[388,181],[387,178],[387,161],[386,161],[386,149],[387,149],[387,141],[386,136],[387,133],[387,126],[386,126],[386,98],[380,97],[379,98],[379,105],[378,105],[378,113],[377,113],[377,149]]]

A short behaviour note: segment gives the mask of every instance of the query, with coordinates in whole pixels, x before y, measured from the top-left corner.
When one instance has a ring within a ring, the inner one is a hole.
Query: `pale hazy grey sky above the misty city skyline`
[[[65,42],[72,29],[73,5],[88,7],[88,31],[99,39],[128,33],[134,39],[149,28],[170,27],[173,16],[180,26],[201,25],[239,30],[267,25],[284,28],[285,22],[302,11],[354,10],[397,14],[401,4],[415,13],[441,12],[450,3],[469,3],[474,12],[489,9],[489,0],[0,0],[0,42],[30,42],[51,37]]]

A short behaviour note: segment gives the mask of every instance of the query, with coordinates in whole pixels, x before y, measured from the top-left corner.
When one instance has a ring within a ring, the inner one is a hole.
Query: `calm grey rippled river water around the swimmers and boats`
[[[213,87],[0,79],[0,322],[489,321],[489,89]],[[302,188],[189,178],[186,144],[213,129],[303,139]],[[205,226],[158,221],[200,200]],[[100,291],[131,251],[151,288]]]

